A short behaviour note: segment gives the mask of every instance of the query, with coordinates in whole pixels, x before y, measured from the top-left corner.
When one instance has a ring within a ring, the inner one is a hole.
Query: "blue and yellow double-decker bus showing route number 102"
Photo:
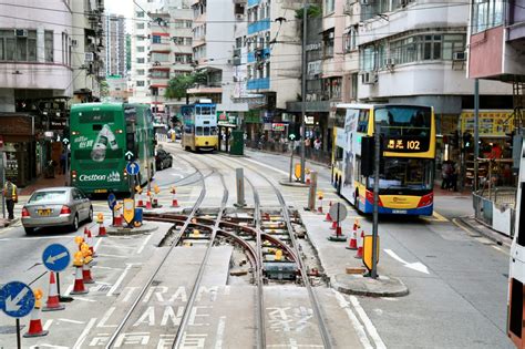
[[[431,106],[340,104],[336,112],[332,184],[359,212],[373,211],[373,176],[364,176],[361,140],[380,125],[383,143],[379,174],[379,213],[431,216],[435,158],[435,120]]]

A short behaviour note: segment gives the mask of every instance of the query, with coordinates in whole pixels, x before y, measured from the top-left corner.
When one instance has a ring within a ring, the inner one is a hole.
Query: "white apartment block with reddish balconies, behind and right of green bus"
[[[189,1],[148,1],[135,6],[131,89],[137,103],[167,122],[185,101],[165,97],[171,79],[193,71],[193,11]]]

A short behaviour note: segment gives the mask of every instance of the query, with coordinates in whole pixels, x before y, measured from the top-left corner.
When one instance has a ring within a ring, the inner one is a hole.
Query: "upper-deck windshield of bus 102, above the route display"
[[[425,106],[381,106],[374,111],[375,122],[387,136],[429,136],[432,110]]]

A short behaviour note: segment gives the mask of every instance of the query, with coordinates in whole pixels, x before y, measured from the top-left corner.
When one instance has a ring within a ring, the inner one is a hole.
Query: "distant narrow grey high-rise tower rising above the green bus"
[[[126,41],[124,16],[104,17],[105,75],[126,75]]]

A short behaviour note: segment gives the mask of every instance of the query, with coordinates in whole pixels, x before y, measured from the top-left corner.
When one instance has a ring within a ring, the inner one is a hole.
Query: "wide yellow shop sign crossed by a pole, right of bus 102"
[[[514,130],[514,117],[512,111],[484,111],[480,112],[480,135],[504,136]],[[461,133],[474,134],[474,112],[463,111],[461,113]]]

